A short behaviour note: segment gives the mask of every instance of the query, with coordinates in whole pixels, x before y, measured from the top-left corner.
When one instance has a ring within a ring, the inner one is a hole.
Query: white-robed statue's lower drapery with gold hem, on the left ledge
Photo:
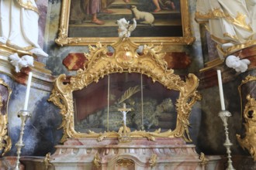
[[[0,1],[0,44],[48,56],[38,44],[39,12],[35,1]]]

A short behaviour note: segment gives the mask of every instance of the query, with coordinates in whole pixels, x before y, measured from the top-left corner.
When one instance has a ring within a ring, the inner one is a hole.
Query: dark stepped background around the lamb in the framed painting
[[[116,21],[125,18],[133,23],[134,15],[130,10],[131,5],[143,12],[150,12],[154,15],[154,26],[143,24],[137,21],[137,29],[132,32],[132,37],[182,37],[182,13],[179,0],[172,0],[175,8],[164,8],[159,12],[154,12],[155,5],[151,0],[102,0],[106,2],[105,9],[97,13],[97,18],[103,25],[92,23],[92,15],[87,15],[82,6],[81,0],[72,0],[70,7],[70,19],[68,26],[68,37],[117,37],[118,26]],[[161,0],[159,2],[171,2]],[[107,11],[106,11],[107,10]],[[109,13],[112,12],[112,13]],[[96,31],[95,31],[96,30]]]

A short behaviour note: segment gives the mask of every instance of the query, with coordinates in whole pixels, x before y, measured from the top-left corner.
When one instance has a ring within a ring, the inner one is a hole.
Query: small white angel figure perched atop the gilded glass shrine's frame
[[[133,25],[129,25],[129,21],[126,21],[125,18],[117,20],[118,28],[118,36],[119,38],[127,38],[130,37],[130,33],[133,32],[133,30],[137,26],[137,22],[135,19],[133,19]]]

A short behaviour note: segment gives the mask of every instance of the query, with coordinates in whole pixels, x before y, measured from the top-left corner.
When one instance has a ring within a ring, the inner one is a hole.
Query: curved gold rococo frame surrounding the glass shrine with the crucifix
[[[190,73],[186,80],[174,73],[174,70],[167,69],[167,63],[164,60],[165,53],[161,53],[162,46],[153,44],[144,45],[142,54],[137,53],[139,44],[131,42],[130,39],[119,39],[113,43],[115,49],[112,56],[108,55],[108,46],[98,43],[96,46],[89,46],[89,53],[85,53],[88,62],[85,63],[84,70],[78,70],[77,74],[71,76],[67,83],[67,76],[61,74],[54,83],[54,89],[50,95],[52,101],[57,107],[60,107],[62,114],[62,124],[60,128],[64,129],[62,141],[66,138],[97,138],[102,141],[104,138],[122,138],[122,131],[106,131],[95,133],[80,133],[74,130],[74,101],[73,91],[81,90],[90,83],[97,83],[110,73],[142,73],[152,79],[153,82],[161,83],[168,90],[178,90],[179,97],[175,106],[177,110],[176,128],[174,131],[160,130],[154,132],[147,131],[127,131],[129,138],[147,138],[154,141],[155,138],[184,138],[185,141],[192,141],[189,137],[189,116],[193,104],[201,99],[196,88],[199,85],[199,79]],[[126,128],[126,127],[124,127]],[[123,129],[125,131],[125,129]]]

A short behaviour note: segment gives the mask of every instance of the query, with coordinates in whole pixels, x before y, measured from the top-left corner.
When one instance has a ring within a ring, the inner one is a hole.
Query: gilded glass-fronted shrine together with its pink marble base
[[[195,145],[186,145],[192,106],[201,98],[198,78],[182,80],[169,70],[161,45],[139,50],[122,38],[89,49],[84,69],[54,83],[49,100],[61,108],[64,145],[49,162],[55,168],[203,168]]]

